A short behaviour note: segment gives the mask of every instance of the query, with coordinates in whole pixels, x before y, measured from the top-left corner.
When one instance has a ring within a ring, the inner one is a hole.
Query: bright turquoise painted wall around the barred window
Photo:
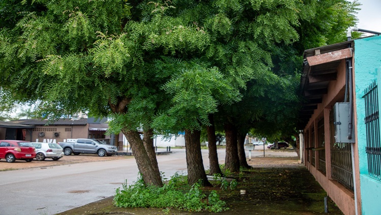
[[[368,160],[365,152],[366,127],[364,90],[377,76],[381,77],[381,36],[355,40],[355,90],[357,108],[357,147],[359,149],[360,189],[362,214],[381,214],[381,181],[368,176]],[[381,94],[381,79],[377,80]],[[381,101],[379,103],[381,105]]]

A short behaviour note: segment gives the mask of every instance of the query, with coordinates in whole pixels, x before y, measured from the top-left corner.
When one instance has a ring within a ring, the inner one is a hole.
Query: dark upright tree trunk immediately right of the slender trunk
[[[226,156],[225,156],[225,169],[230,172],[239,171],[239,158],[237,147],[237,130],[234,125],[227,122],[225,124],[225,138],[226,138]]]

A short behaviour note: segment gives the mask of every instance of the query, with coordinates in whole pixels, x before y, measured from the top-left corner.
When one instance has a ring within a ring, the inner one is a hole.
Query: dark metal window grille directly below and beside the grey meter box
[[[354,191],[351,144],[335,143],[333,110],[331,110],[329,118],[332,178],[347,189]]]

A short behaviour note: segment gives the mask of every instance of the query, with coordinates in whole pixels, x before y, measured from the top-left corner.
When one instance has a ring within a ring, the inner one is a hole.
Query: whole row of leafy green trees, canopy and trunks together
[[[59,117],[111,116],[145,183],[162,186],[153,139],[185,131],[188,182],[208,185],[200,148],[220,173],[247,167],[246,133],[293,134],[302,53],[345,40],[357,2],[344,0],[4,0],[1,103]],[[144,136],[140,138],[139,130]]]

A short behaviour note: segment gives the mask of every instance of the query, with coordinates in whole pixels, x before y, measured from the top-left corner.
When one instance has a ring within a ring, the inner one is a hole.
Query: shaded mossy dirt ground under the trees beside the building
[[[324,213],[327,195],[297,157],[255,157],[248,164],[253,168],[243,171],[237,178],[238,187],[221,194],[230,208],[218,214],[261,215],[312,215]],[[240,190],[246,190],[245,195]],[[332,200],[328,201],[329,213],[343,214]],[[119,208],[113,206],[113,197],[77,207],[59,215],[100,214],[215,214],[212,212],[187,212],[163,208]]]

